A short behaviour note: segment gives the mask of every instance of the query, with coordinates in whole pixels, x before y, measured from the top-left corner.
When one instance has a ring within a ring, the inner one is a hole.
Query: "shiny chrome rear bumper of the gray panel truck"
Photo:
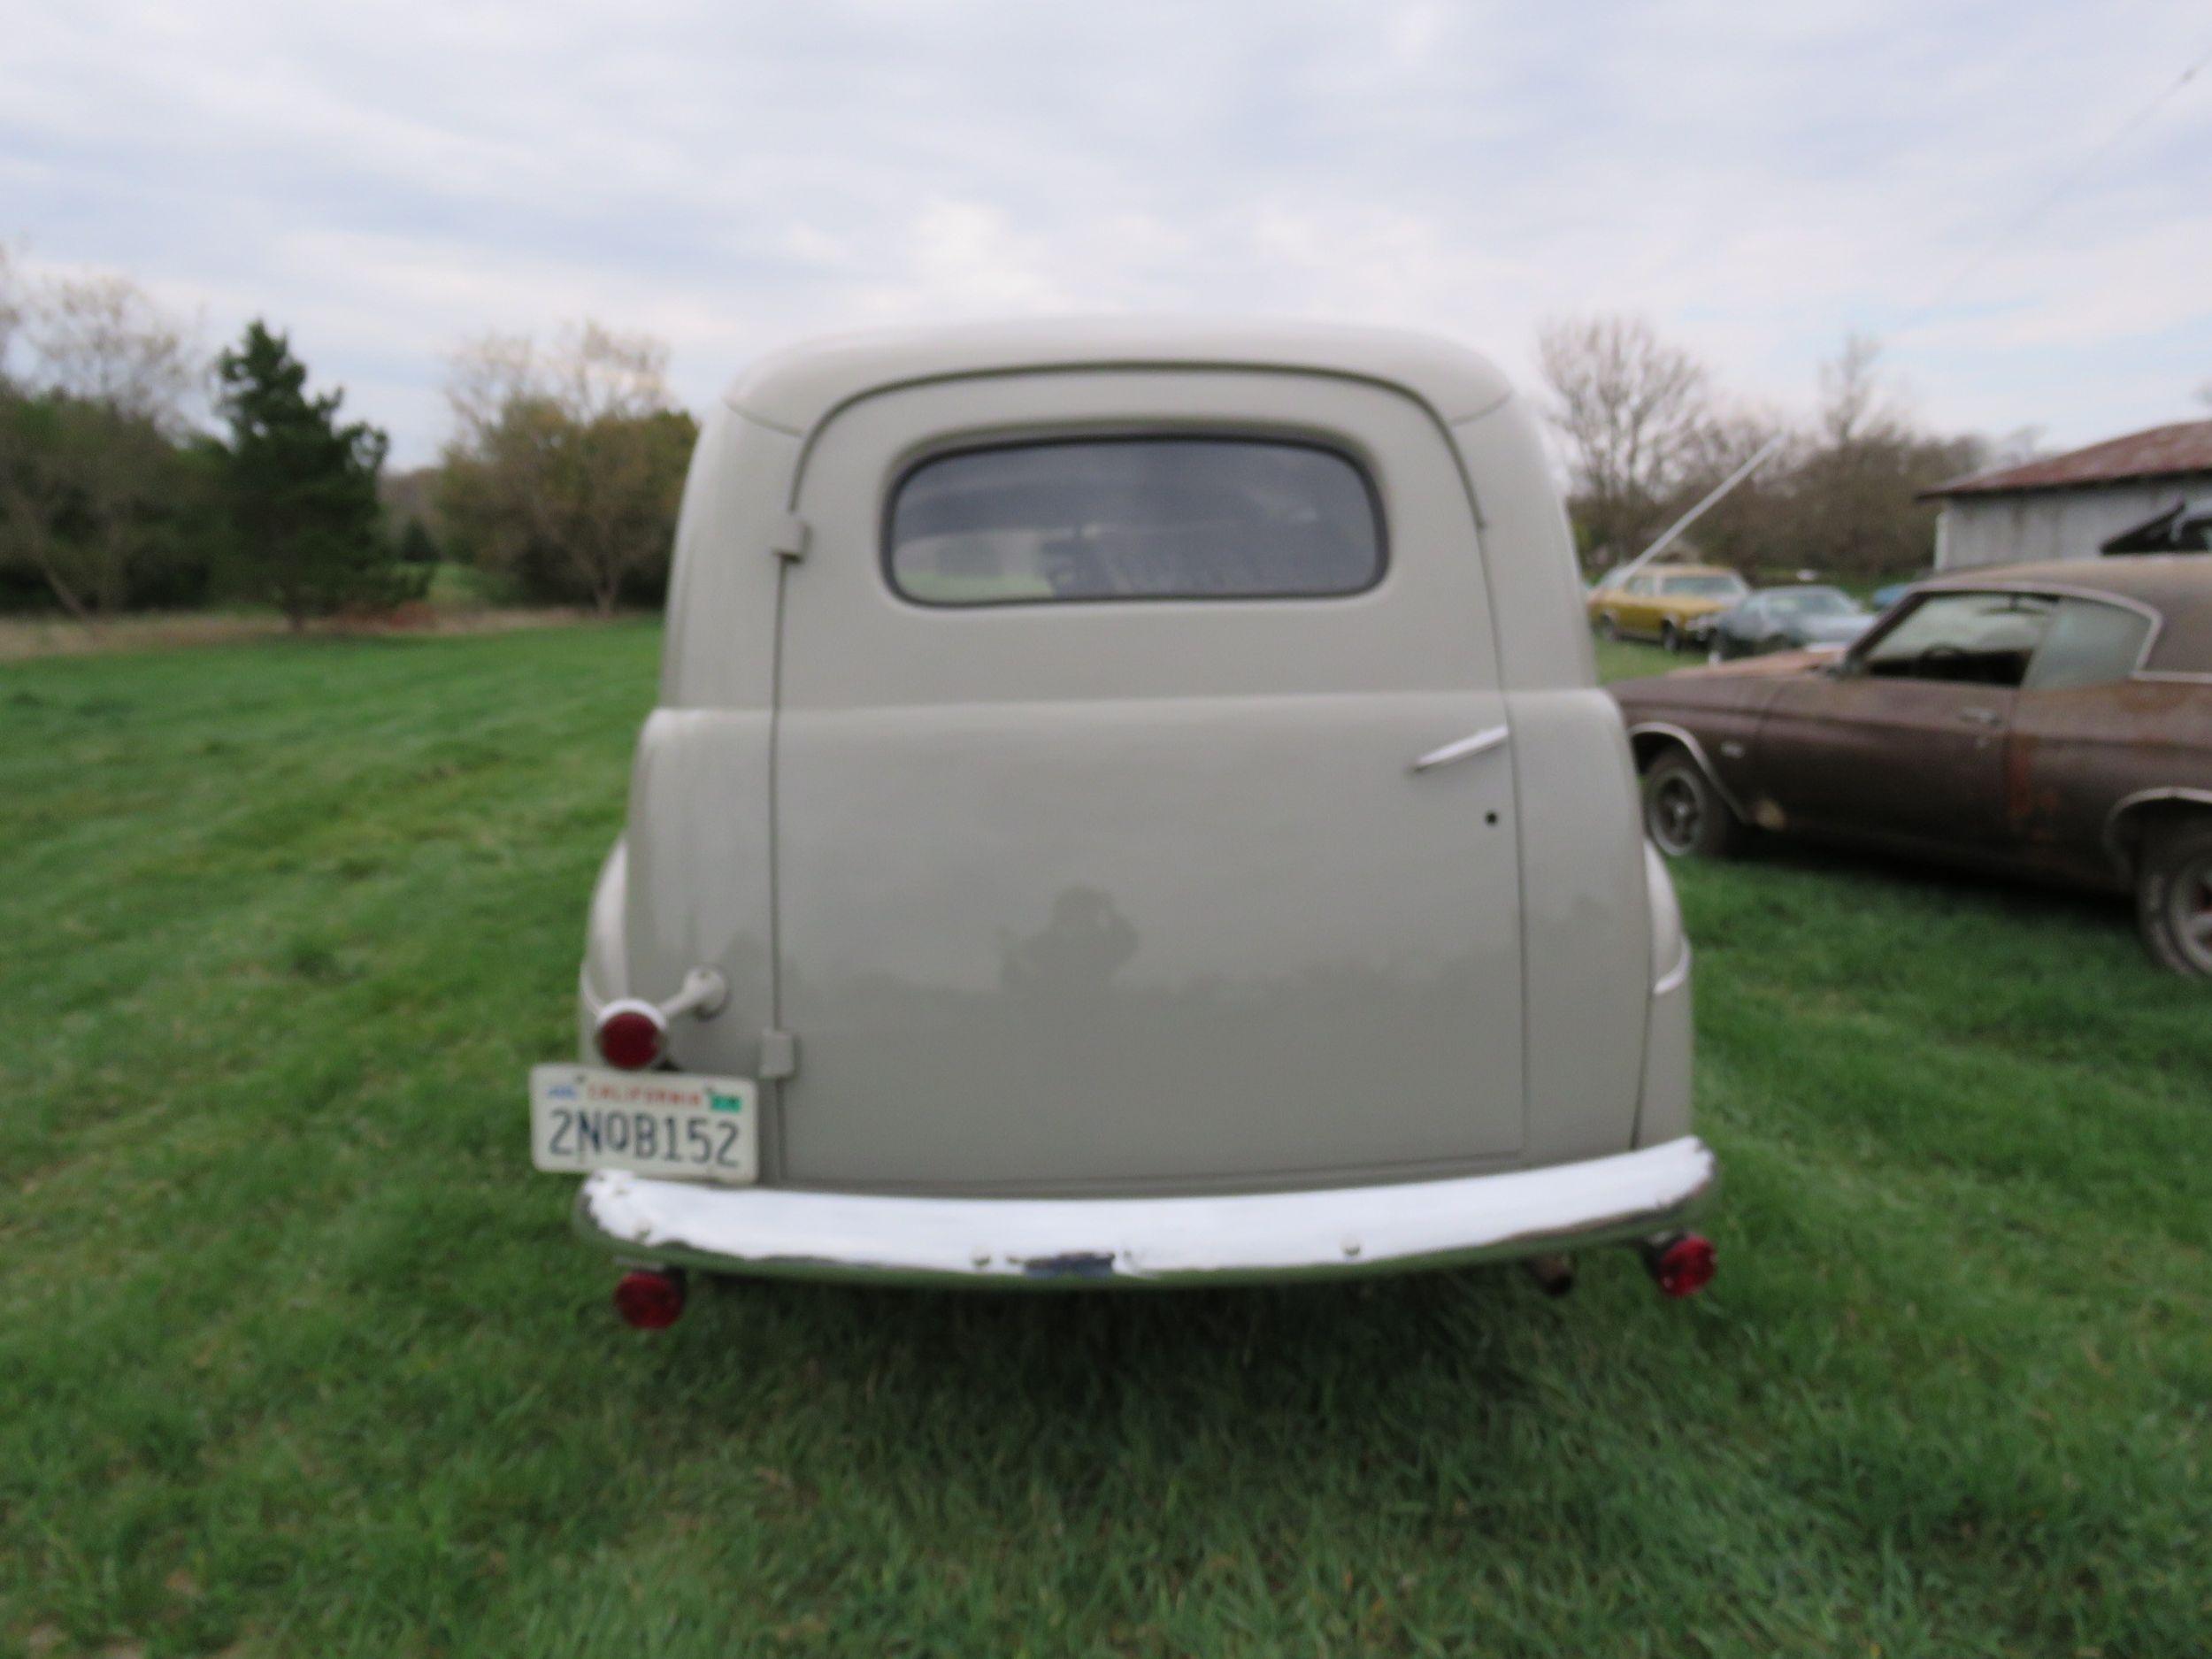
[[[1217,1281],[1438,1267],[1677,1223],[1714,1179],[1694,1135],[1451,1181],[1172,1199],[909,1199],[593,1175],[577,1228],[741,1274],[938,1283]]]

